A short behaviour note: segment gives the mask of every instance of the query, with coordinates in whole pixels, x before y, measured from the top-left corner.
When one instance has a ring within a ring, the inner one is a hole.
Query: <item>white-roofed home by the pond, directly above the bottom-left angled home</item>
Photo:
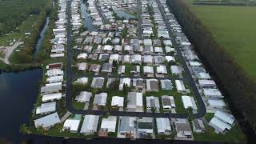
[[[56,102],[42,103],[36,109],[36,114],[50,114],[56,111]]]

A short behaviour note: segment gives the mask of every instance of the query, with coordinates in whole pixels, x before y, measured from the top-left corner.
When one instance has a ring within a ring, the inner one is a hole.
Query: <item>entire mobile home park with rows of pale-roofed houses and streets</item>
[[[165,0],[58,6],[32,133],[200,140],[239,129]]]

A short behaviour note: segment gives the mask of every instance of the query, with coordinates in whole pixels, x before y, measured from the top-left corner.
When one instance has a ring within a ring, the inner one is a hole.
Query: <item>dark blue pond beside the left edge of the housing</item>
[[[30,120],[41,78],[41,69],[0,74],[0,138],[23,138],[19,127]]]

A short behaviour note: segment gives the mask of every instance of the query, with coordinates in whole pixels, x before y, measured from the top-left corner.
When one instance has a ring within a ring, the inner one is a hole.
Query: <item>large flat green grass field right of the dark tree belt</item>
[[[256,6],[195,6],[191,0],[186,2],[217,42],[256,81]]]

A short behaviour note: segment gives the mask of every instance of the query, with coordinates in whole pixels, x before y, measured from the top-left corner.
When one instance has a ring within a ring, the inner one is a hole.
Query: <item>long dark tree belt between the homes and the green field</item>
[[[210,30],[202,25],[200,19],[185,2],[168,0],[167,4],[174,11],[198,53],[202,55],[206,64],[210,66],[213,74],[218,78],[223,90],[229,94],[230,98],[228,99],[231,100],[236,109],[234,113],[242,114],[256,130],[255,82],[238,66],[234,59],[230,58],[230,54],[216,42]]]

